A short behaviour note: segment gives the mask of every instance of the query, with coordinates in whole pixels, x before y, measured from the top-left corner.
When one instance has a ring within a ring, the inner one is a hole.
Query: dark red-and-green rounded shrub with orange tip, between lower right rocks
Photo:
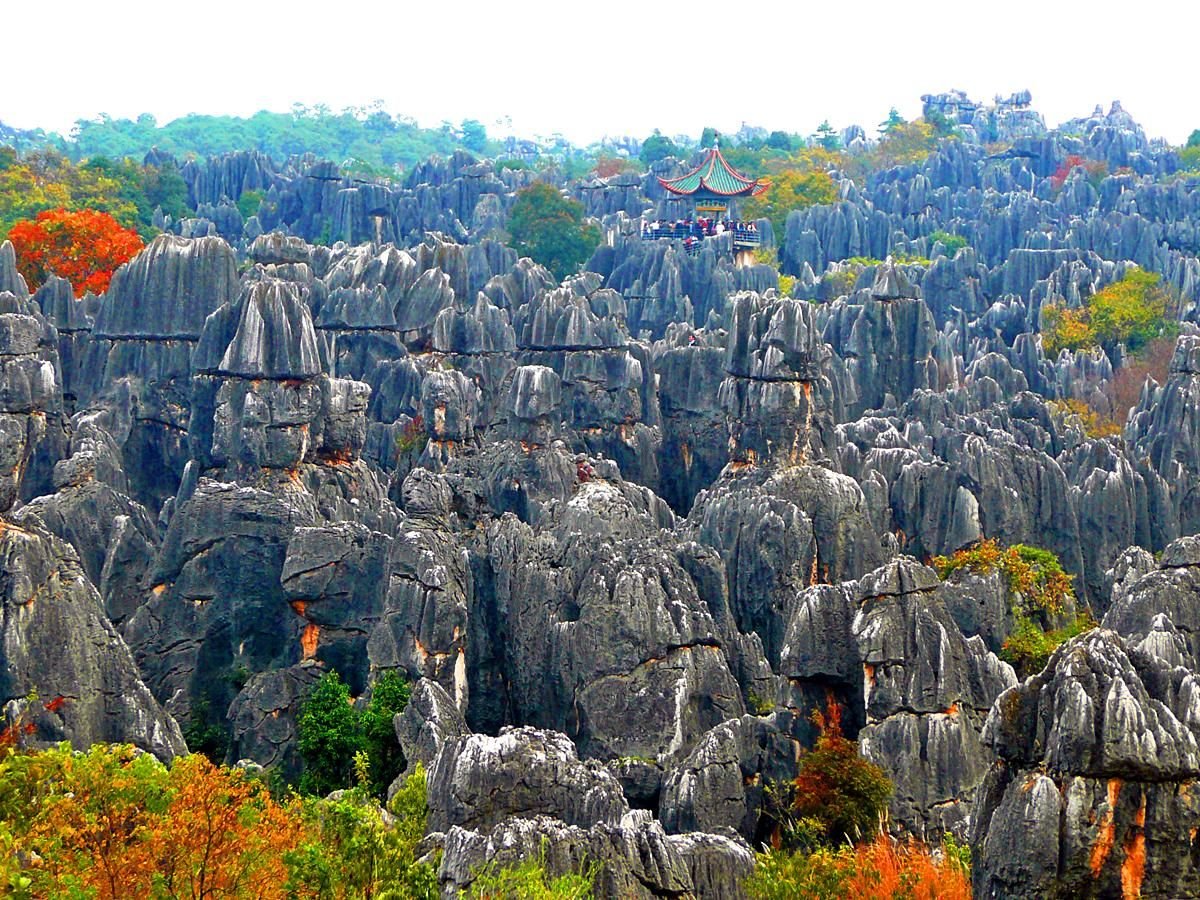
[[[841,733],[841,708],[833,700],[814,712],[816,745],[800,757],[793,812],[824,827],[833,844],[874,835],[887,810],[892,782],[883,769],[858,755],[858,744]]]

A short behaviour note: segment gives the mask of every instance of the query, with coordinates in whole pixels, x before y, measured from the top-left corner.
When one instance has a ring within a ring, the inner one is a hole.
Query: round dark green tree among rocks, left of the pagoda
[[[600,229],[583,221],[583,204],[544,181],[517,192],[509,217],[512,246],[541,263],[556,278],[578,271],[600,244]]]

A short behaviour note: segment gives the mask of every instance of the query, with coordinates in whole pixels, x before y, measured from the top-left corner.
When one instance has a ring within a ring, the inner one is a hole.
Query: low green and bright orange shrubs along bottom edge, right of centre
[[[961,857],[877,835],[869,844],[812,853],[761,853],[745,882],[754,900],[970,900]]]

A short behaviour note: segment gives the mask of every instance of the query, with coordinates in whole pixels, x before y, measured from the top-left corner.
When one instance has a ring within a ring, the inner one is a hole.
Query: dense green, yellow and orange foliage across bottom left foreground
[[[10,736],[11,737],[11,736]],[[35,898],[433,900],[420,766],[382,809],[360,785],[274,797],[265,780],[198,754],[170,767],[127,745],[0,749],[0,894]],[[360,763],[365,763],[365,755]],[[592,895],[538,860],[480,872],[473,896]]]

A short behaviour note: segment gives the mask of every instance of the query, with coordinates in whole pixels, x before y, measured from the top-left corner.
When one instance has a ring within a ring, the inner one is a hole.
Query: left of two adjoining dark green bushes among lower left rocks
[[[322,676],[301,706],[296,749],[304,761],[304,793],[323,796],[349,786],[354,754],[362,749],[362,727],[350,689],[337,672]]]

